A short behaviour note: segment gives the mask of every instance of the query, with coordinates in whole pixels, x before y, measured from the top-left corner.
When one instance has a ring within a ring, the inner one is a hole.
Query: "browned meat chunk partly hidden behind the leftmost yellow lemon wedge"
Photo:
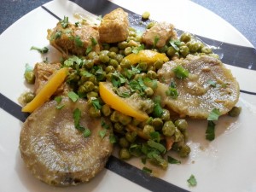
[[[60,63],[47,64],[47,63],[37,63],[34,67],[35,73],[35,84],[34,93],[38,95],[39,90],[46,84],[49,77],[58,69],[61,68]],[[71,90],[68,84],[64,83],[55,91],[55,96],[62,95],[67,96],[67,93]]]

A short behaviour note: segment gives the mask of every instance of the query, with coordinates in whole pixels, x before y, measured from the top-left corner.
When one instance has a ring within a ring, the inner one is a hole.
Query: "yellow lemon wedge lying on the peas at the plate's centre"
[[[105,103],[120,113],[124,113],[138,120],[143,121],[148,119],[147,113],[144,113],[137,108],[133,108],[130,103],[125,101],[125,99],[116,95],[111,88],[111,84],[107,82],[100,82],[99,84],[100,95]]]

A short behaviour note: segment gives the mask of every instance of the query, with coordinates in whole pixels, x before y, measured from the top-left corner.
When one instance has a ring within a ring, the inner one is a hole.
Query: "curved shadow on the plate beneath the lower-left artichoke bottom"
[[[26,191],[38,191],[38,192],[68,192],[73,191],[75,189],[76,192],[84,192],[86,191],[94,191],[97,187],[99,187],[99,183],[102,183],[103,178],[107,174],[107,169],[103,169],[102,172],[99,172],[97,176],[89,183],[81,183],[77,186],[71,187],[55,187],[49,186],[46,183],[39,181],[37,178],[32,176],[32,173],[26,168],[23,160],[20,156],[20,150],[17,148],[16,152],[16,164],[15,164],[15,171],[17,172],[18,177],[20,178],[20,183],[24,186]]]

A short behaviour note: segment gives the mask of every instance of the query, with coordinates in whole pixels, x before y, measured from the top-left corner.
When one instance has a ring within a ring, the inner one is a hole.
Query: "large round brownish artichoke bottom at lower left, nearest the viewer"
[[[89,105],[80,99],[72,102],[63,97],[60,103],[46,102],[34,111],[20,131],[20,153],[34,177],[55,186],[77,185],[90,181],[105,166],[112,153],[109,140],[112,129],[102,127],[107,119],[90,118]],[[75,128],[73,112],[79,108],[81,127],[90,130],[84,137],[83,131]],[[106,131],[104,137],[99,131]]]

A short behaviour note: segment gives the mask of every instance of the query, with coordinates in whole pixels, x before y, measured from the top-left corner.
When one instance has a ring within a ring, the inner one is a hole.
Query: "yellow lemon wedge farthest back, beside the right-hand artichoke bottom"
[[[147,64],[154,64],[155,61],[169,61],[169,58],[165,54],[158,53],[154,50],[141,50],[138,54],[132,53],[125,56],[125,60],[131,62],[131,65],[134,65],[138,62],[146,62]]]

